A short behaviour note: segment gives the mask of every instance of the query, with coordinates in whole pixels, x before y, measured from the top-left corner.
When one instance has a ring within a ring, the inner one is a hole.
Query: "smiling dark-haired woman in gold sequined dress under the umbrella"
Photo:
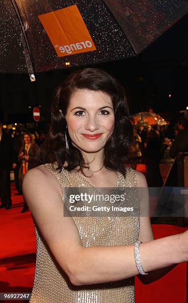
[[[83,193],[88,188],[99,193],[99,186],[147,188],[141,173],[124,166],[132,129],[124,90],[106,72],[83,69],[57,89],[43,154],[49,163],[30,170],[23,181],[37,237],[31,303],[132,303],[135,275],[140,272],[148,283],[188,260],[188,234],[153,241],[146,213],[71,217],[63,212],[66,188],[81,187]],[[145,197],[131,199],[135,208],[148,211]]]

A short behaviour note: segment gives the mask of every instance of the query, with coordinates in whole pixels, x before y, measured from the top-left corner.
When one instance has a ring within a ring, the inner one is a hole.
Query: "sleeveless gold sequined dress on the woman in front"
[[[95,188],[78,173],[61,173],[52,164],[44,164],[58,179],[61,188]],[[126,177],[117,172],[115,187],[136,187],[135,173],[126,167]],[[132,205],[139,207],[139,198],[132,195]],[[134,244],[139,237],[140,217],[72,217],[84,247],[120,246]],[[41,233],[36,231],[37,257],[35,280],[30,303],[133,303],[134,277],[94,285],[74,286],[50,252]],[[109,264],[110,266],[110,264]]]

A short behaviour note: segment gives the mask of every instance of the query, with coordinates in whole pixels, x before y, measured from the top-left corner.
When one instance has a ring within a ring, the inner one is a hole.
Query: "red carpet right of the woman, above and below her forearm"
[[[153,224],[154,238],[180,234],[185,227],[166,224]],[[178,264],[168,274],[156,282],[143,285],[135,277],[136,303],[186,303],[187,302],[187,263]]]

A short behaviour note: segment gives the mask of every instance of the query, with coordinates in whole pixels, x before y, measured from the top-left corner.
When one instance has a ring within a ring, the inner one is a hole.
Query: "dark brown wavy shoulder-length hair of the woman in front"
[[[133,119],[125,97],[124,88],[107,72],[96,68],[84,68],[70,74],[55,90],[51,107],[51,124],[47,140],[41,149],[42,163],[57,162],[56,169],[71,171],[78,167],[83,173],[86,167],[82,153],[71,144],[66,129],[65,114],[71,95],[80,89],[101,91],[111,97],[115,126],[104,147],[104,166],[125,175],[128,147],[133,137]],[[66,149],[65,132],[69,149]],[[63,166],[66,162],[66,165]]]

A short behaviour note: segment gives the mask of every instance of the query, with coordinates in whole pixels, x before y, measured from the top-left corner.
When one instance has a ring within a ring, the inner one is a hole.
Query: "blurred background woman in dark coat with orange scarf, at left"
[[[18,161],[21,162],[18,178],[20,180],[20,188],[22,188],[22,181],[26,172],[38,165],[38,151],[39,147],[35,143],[31,133],[26,132],[23,137],[23,142],[18,155]],[[28,211],[28,205],[24,200],[23,209],[21,212]]]

